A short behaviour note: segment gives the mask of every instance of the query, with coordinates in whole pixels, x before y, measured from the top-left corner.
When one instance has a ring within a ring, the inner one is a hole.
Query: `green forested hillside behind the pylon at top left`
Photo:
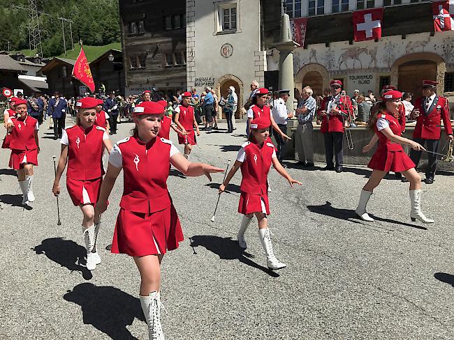
[[[29,48],[27,0],[0,0],[0,50],[17,51]],[[36,0],[39,15],[43,56],[64,52],[61,20],[73,21],[73,41],[84,45],[107,45],[120,39],[117,0]],[[69,23],[65,22],[66,48],[71,47]]]

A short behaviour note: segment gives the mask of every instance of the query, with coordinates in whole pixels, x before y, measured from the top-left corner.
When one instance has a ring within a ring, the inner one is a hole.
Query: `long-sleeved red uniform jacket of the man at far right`
[[[413,138],[440,139],[441,119],[443,119],[446,134],[453,134],[453,127],[451,126],[451,121],[449,121],[449,105],[446,98],[439,97],[439,95],[435,96],[428,112],[425,112],[423,98],[418,98],[415,103],[415,109],[419,109],[420,114],[416,117]]]

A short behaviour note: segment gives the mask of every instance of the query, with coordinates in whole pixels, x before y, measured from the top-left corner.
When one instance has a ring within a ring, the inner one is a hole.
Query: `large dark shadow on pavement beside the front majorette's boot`
[[[85,282],[63,298],[80,306],[85,325],[93,325],[114,340],[137,339],[126,325],[132,325],[134,318],[145,322],[140,300],[118,288]],[[147,327],[143,327],[143,332],[148,332]]]

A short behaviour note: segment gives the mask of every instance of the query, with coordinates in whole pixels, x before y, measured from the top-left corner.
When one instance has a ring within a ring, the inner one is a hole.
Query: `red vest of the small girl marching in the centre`
[[[242,145],[246,151],[246,160],[241,164],[242,180],[240,190],[249,194],[267,194],[267,176],[271,167],[274,145],[257,144],[248,141]]]

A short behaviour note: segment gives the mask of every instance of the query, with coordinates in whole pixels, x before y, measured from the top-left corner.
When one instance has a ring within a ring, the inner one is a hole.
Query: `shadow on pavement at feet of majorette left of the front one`
[[[41,245],[37,245],[31,250],[38,255],[45,254],[51,261],[71,270],[71,272],[81,272],[82,277],[86,280],[93,277],[85,267],[87,251],[74,241],[64,240],[63,238],[47,238],[41,242]]]

